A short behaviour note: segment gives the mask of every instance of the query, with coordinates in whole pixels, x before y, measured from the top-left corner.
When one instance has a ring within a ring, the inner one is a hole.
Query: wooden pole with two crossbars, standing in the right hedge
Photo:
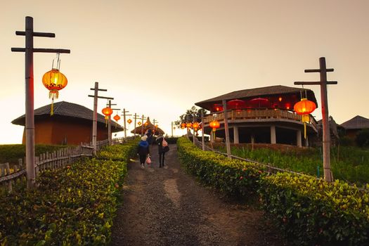
[[[332,182],[332,172],[330,171],[330,127],[328,112],[327,84],[337,84],[337,81],[327,81],[327,72],[333,72],[333,68],[327,68],[325,58],[319,58],[319,69],[306,69],[305,72],[319,72],[321,81],[319,82],[294,82],[294,84],[318,84],[321,86],[321,104],[323,120],[323,168],[324,180]]]

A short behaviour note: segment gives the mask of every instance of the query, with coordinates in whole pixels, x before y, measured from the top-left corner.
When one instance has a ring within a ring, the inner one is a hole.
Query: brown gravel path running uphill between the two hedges
[[[123,203],[112,226],[112,245],[287,245],[263,212],[229,201],[198,183],[181,168],[170,145],[159,168],[157,145],[152,163],[128,164]]]

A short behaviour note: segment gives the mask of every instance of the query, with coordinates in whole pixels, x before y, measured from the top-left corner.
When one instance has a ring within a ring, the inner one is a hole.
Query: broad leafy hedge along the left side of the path
[[[132,148],[136,144],[108,146],[105,157],[112,150],[121,154],[119,158],[86,158],[44,171],[34,190],[0,198],[0,244],[108,244]]]

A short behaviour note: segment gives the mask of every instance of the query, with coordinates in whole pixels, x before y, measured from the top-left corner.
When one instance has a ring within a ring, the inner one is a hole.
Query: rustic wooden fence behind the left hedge
[[[63,148],[53,153],[44,153],[35,157],[34,169],[36,175],[40,171],[47,169],[58,169],[67,164],[72,164],[80,157],[91,157],[93,148],[87,145],[79,145],[77,147]],[[25,180],[26,169],[19,159],[18,165],[14,165],[11,169],[8,163],[0,164],[0,185],[4,186],[6,190],[11,192],[13,183]]]

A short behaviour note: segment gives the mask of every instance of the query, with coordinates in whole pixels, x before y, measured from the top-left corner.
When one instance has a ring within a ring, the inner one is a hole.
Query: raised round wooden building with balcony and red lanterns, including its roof
[[[301,147],[309,146],[309,138],[318,133],[316,120],[309,115],[305,139],[302,117],[294,112],[294,104],[305,96],[318,108],[313,91],[280,85],[233,91],[195,105],[210,111],[203,122],[206,134],[212,131],[209,122],[216,119],[220,123],[216,137],[224,138],[226,115],[232,143],[283,143]],[[224,100],[226,113],[222,105]]]

